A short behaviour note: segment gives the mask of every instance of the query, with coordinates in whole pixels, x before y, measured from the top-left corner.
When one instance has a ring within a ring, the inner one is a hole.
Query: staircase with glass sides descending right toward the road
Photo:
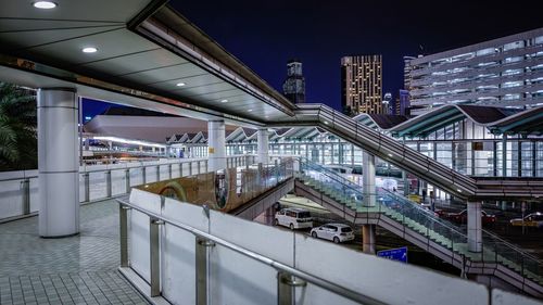
[[[378,188],[375,193],[365,194],[361,186],[305,158],[300,160],[295,178],[296,194],[345,220],[381,226],[467,275],[493,276],[525,293],[543,297],[543,263],[490,232],[483,232],[482,251],[470,252],[465,229],[394,192]],[[365,196],[375,196],[376,204],[365,206]]]

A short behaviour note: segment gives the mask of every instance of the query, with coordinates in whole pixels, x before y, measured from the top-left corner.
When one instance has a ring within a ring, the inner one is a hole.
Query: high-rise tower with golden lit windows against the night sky
[[[383,113],[381,55],[342,58],[341,96],[345,114]]]

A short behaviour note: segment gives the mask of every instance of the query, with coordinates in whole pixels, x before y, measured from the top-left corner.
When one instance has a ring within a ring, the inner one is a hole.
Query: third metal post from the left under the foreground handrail
[[[197,304],[205,305],[207,304],[207,270],[210,266],[210,247],[214,246],[215,243],[197,238],[195,242],[195,274],[197,274]]]

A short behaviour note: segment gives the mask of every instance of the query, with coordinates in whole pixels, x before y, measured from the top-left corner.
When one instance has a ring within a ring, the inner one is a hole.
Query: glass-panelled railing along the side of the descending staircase
[[[465,256],[473,263],[496,263],[543,284],[543,262],[509,242],[483,231],[480,241],[481,251],[470,252],[467,246],[470,242],[465,227],[439,218],[433,212],[425,209],[402,195],[377,188],[375,192],[365,193],[363,188],[317,164],[305,158],[300,160],[300,173],[296,177],[307,186],[323,192],[337,203],[356,212],[356,217],[364,214],[382,213],[391,219],[424,236],[429,241],[435,242],[450,251]],[[365,205],[365,196],[375,196],[375,205]],[[478,241],[471,241],[478,242]]]

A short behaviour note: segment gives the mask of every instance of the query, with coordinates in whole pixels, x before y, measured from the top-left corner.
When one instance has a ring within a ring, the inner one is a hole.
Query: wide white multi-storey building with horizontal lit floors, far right
[[[405,59],[412,114],[446,104],[543,105],[543,28]]]

